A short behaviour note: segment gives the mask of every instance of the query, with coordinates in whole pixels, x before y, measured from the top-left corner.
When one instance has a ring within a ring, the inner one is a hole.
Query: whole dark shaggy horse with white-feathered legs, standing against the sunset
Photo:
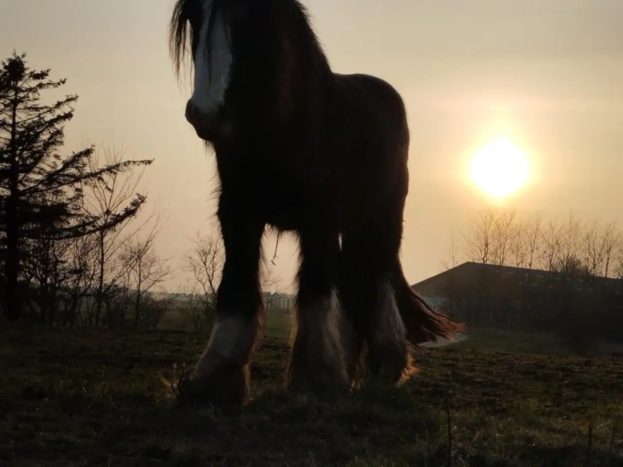
[[[178,0],[169,39],[178,73],[191,45],[186,119],[216,153],[226,251],[216,324],[179,399],[248,399],[267,225],[300,243],[290,387],[350,390],[365,364],[369,377],[406,379],[410,344],[462,325],[402,272],[409,129],[399,93],[332,72],[297,0]]]

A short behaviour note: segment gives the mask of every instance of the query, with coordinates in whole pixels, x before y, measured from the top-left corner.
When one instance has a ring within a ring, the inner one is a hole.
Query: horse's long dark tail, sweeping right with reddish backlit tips
[[[465,328],[465,323],[455,323],[445,314],[430,308],[424,299],[411,289],[398,258],[392,286],[400,317],[407,330],[407,339],[414,346],[422,342],[437,341],[437,337],[454,341],[450,334],[460,333]]]

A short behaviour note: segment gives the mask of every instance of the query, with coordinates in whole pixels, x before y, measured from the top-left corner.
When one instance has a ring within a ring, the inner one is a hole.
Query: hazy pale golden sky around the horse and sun
[[[469,156],[498,133],[537,176],[505,205],[520,212],[622,220],[623,1],[307,0],[338,72],[388,80],[406,100],[411,187],[402,261],[411,283],[440,271],[453,229],[488,200],[468,186]],[[67,149],[84,138],[155,158],[150,207],[168,222],[159,252],[179,257],[210,228],[212,154],[184,120],[166,27],[173,0],[0,0],[0,56],[28,53],[78,93]],[[272,257],[274,238],[266,244]],[[277,272],[289,286],[295,248]],[[170,286],[183,281],[178,277]]]

